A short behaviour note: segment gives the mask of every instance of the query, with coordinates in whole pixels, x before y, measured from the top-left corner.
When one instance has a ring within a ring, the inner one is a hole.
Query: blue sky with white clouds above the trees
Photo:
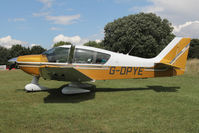
[[[176,36],[199,38],[199,0],[0,0],[0,46],[49,49],[103,40],[104,26],[139,12],[168,19]]]

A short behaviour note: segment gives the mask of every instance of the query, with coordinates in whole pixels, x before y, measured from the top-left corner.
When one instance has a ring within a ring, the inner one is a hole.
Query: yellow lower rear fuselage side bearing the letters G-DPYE
[[[109,67],[106,70],[76,69],[94,80],[166,77],[184,73],[183,70],[174,68],[166,68],[165,70],[144,67]]]

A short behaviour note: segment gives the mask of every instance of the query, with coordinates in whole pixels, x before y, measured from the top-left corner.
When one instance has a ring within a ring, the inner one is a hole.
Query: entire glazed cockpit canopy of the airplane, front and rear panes
[[[56,63],[105,64],[110,58],[107,53],[90,50],[88,47],[75,48],[75,46],[55,47],[42,54],[46,55],[48,62]]]

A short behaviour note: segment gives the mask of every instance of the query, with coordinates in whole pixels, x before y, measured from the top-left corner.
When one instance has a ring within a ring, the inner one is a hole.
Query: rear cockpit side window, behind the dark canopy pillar
[[[75,49],[73,62],[82,64],[105,64],[110,55],[85,49]]]

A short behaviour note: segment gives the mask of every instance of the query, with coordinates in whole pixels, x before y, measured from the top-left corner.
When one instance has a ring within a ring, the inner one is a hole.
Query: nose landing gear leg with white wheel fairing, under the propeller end
[[[42,91],[47,90],[48,88],[39,85],[39,76],[33,76],[32,82],[25,86],[26,91]]]

